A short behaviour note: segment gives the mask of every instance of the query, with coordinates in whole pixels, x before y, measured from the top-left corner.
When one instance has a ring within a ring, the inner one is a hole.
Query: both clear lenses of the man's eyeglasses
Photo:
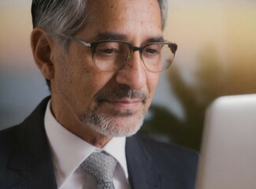
[[[121,69],[128,61],[130,47],[126,43],[106,42],[99,43],[93,54],[93,60],[98,69],[115,71]],[[174,54],[169,44],[150,44],[142,52],[143,63],[151,72],[160,72],[169,67]]]

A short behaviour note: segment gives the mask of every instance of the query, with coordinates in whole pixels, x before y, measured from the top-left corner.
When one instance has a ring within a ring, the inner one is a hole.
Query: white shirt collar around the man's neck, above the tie
[[[48,102],[45,114],[45,128],[55,172],[58,172],[61,183],[76,171],[80,164],[95,150],[106,150],[121,164],[124,174],[128,179],[128,169],[125,157],[125,137],[113,138],[102,149],[87,143],[83,139],[69,132],[54,118]]]

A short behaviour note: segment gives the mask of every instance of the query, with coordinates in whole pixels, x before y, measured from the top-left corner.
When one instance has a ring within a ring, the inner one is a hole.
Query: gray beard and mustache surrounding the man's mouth
[[[98,91],[96,95],[95,106],[91,109],[87,109],[87,112],[83,114],[82,121],[90,128],[94,129],[96,132],[106,135],[108,137],[117,136],[130,136],[134,135],[139,131],[139,128],[143,125],[143,119],[147,113],[147,108],[140,113],[139,117],[135,118],[137,120],[132,120],[131,123],[120,123],[121,121],[115,120],[115,117],[128,118],[135,115],[135,111],[125,111],[120,112],[113,110],[110,114],[101,113],[100,106],[101,103],[108,99],[115,98],[139,98],[141,99],[143,105],[147,102],[147,93],[139,90],[132,90],[126,85],[119,85],[116,89],[112,91]],[[131,118],[132,119],[132,118]],[[120,119],[119,119],[120,120]]]

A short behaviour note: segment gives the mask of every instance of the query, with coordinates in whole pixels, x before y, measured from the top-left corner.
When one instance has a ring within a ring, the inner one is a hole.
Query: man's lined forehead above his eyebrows
[[[157,0],[93,0],[89,19],[80,30],[87,39],[103,32],[147,39],[161,35],[161,13]]]

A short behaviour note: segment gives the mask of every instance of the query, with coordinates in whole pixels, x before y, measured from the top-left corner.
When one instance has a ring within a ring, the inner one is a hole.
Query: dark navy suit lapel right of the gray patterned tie
[[[135,136],[126,140],[128,176],[132,189],[161,188],[160,176],[151,167],[152,158]]]

